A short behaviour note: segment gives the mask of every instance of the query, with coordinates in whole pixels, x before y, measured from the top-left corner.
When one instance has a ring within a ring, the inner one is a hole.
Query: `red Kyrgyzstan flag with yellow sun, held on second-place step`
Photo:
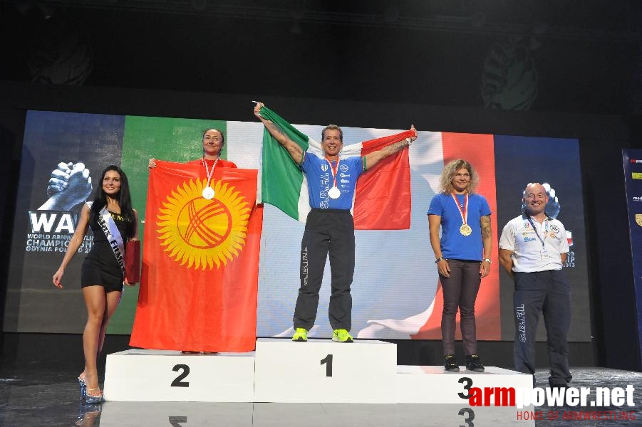
[[[156,164],[130,345],[252,351],[263,221],[257,170],[217,167],[210,182],[214,197],[205,199],[201,165]]]

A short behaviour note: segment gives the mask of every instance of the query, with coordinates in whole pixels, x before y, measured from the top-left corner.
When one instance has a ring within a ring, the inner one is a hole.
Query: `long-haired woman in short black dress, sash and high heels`
[[[65,268],[81,247],[88,228],[91,228],[93,246],[83,262],[81,283],[88,314],[83,332],[85,369],[78,376],[81,397],[87,403],[103,399],[103,391],[98,385],[96,359],[103,347],[109,319],[120,302],[123,285],[130,285],[123,275],[124,244],[128,240],[138,240],[137,223],[138,215],[132,209],[127,176],[120,167],[110,165],[100,176],[100,186],[95,190],[93,203],[83,206],[63,262],[53,275],[53,285],[62,289]]]

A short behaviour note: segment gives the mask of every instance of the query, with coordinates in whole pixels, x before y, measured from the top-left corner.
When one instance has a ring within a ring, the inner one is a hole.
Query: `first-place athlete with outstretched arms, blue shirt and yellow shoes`
[[[329,318],[332,339],[353,342],[352,284],[355,263],[354,221],[350,212],[358,177],[371,170],[378,162],[408,147],[417,139],[415,126],[395,137],[396,141],[363,156],[341,158],[343,132],[337,125],[328,125],[321,132],[324,158],[306,152],[283,129],[262,113],[269,112],[257,102],[254,115],[263,122],[269,134],[286,150],[289,157],[306,174],[311,211],[301,240],[301,288],[294,309],[293,341],[307,341],[314,326],[319,305],[319,290],[326,258],[330,256],[332,292]],[[265,166],[265,164],[264,164]],[[264,174],[266,172],[264,171]],[[269,173],[272,173],[270,171]]]

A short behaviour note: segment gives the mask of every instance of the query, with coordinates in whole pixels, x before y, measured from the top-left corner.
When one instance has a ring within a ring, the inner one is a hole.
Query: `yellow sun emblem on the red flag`
[[[228,183],[213,184],[214,199],[202,191],[206,180],[185,181],[162,203],[156,232],[167,255],[187,268],[212,270],[241,253],[247,238],[251,209]]]

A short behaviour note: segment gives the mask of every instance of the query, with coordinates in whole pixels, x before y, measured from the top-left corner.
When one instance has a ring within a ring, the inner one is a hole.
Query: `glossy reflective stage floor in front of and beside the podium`
[[[104,402],[83,405],[78,400],[76,376],[81,367],[71,364],[2,363],[0,366],[0,426],[636,426],[642,425],[642,374],[616,369],[571,369],[574,387],[635,389],[635,406],[536,406],[544,418],[549,413],[590,411],[633,413],[635,420],[612,419],[519,421],[517,408],[471,407],[430,404],[212,404]],[[544,388],[548,373],[537,371],[537,387]],[[526,411],[524,408],[523,411]],[[173,415],[172,415],[173,414]],[[471,416],[474,418],[471,419]],[[522,413],[522,416],[524,414]],[[472,422],[467,424],[466,421]]]

